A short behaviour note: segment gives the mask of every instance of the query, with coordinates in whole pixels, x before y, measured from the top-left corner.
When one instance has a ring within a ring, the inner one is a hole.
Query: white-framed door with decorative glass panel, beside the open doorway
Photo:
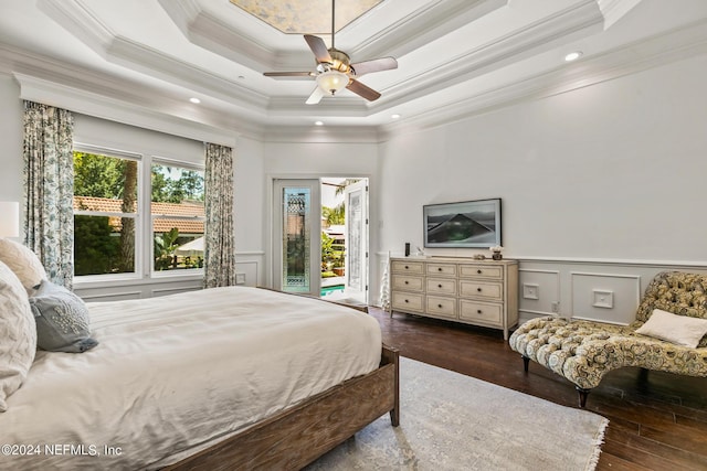
[[[276,179],[273,191],[273,287],[318,297],[321,289],[319,179]]]

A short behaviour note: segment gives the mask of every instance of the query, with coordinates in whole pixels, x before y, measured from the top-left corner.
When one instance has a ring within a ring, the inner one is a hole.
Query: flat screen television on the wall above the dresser
[[[425,247],[494,247],[500,244],[500,199],[422,206]]]

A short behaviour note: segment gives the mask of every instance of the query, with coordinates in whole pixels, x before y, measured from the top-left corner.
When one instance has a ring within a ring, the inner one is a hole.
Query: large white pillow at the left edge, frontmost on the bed
[[[0,261],[0,413],[22,385],[36,353],[36,324],[22,283]]]

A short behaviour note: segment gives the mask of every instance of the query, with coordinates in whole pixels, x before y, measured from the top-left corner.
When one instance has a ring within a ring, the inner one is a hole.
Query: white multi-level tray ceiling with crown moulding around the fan
[[[341,0],[337,49],[356,62],[394,56],[399,67],[361,77],[382,93],[376,101],[342,90],[308,106],[314,81],[263,72],[314,68],[300,33],[330,42],[328,0],[3,0],[1,9],[0,69],[24,96],[101,97],[261,132],[315,120],[347,129],[430,126],[701,54],[707,44],[704,0],[679,8],[663,0]],[[581,58],[564,63],[572,51]]]

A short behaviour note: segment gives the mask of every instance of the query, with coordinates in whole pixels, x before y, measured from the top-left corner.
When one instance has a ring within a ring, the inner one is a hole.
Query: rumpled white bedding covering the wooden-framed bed
[[[88,309],[99,344],[38,352],[9,397],[1,469],[165,465],[380,363],[374,318],[262,289]]]

